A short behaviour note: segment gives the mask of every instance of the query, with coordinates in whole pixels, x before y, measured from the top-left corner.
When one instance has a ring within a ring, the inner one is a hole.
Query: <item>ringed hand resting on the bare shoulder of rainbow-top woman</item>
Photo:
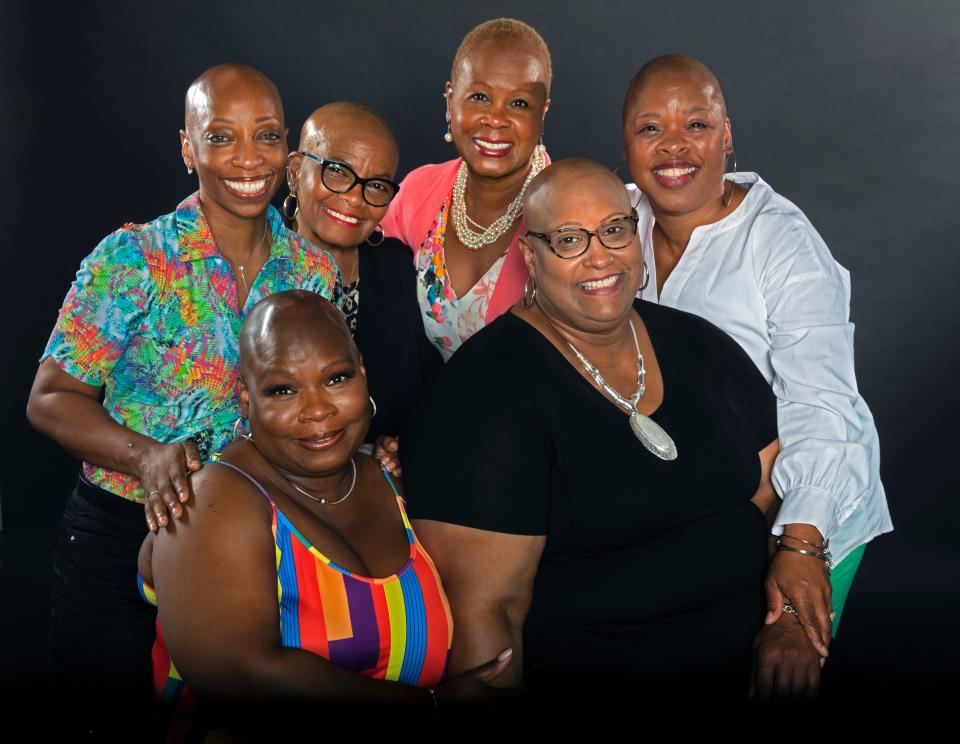
[[[144,490],[143,510],[147,527],[157,532],[170,518],[180,519],[192,494],[190,473],[202,467],[200,451],[192,439],[161,444],[154,442],[141,457],[138,475]]]

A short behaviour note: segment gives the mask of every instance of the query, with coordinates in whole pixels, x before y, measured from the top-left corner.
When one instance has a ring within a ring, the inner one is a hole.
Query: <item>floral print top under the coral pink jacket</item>
[[[445,362],[486,324],[487,305],[504,260],[504,256],[500,256],[463,297],[457,297],[443,256],[449,211],[448,196],[437,213],[433,229],[427,233],[413,258],[417,267],[417,299],[423,311],[423,326],[427,338],[440,350]]]

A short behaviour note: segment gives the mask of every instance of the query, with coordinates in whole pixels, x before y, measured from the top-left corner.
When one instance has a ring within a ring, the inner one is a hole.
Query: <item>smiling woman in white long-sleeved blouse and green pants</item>
[[[651,275],[641,296],[725,330],[779,399],[773,480],[783,502],[767,622],[796,612],[826,656],[866,543],[893,529],[854,376],[849,275],[759,176],[724,174],[730,120],[700,62],[644,65],[624,101],[623,137]]]

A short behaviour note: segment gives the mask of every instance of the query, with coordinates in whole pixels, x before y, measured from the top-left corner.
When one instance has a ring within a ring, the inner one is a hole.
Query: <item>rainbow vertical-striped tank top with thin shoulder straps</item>
[[[450,606],[437,569],[414,535],[403,499],[385,470],[410,555],[397,573],[372,579],[339,566],[311,545],[246,471],[222,460],[213,462],[244,475],[270,503],[284,647],[311,651],[374,679],[420,687],[434,687],[445,679],[453,639]],[[155,605],[152,587],[139,577],[138,584],[144,599]],[[159,622],[153,659],[158,699],[180,697],[183,683],[166,653]]]

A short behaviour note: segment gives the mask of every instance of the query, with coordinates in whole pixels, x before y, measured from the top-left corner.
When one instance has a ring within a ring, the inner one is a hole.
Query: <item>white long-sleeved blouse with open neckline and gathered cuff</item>
[[[877,430],[857,392],[850,275],[803,212],[757,174],[727,177],[747,196],[727,217],[693,231],[659,297],[653,213],[627,187],[650,271],[639,296],[710,320],[750,355],[778,399],[773,483],[783,504],[773,531],[812,524],[839,562],[893,529]]]

